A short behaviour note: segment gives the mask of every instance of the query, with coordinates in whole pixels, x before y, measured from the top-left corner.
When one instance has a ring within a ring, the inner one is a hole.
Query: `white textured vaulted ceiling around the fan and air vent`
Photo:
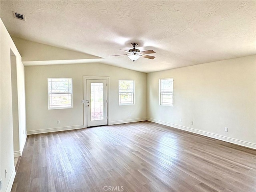
[[[256,54],[256,1],[4,1],[11,36],[153,72]],[[25,14],[14,19],[12,11]],[[135,63],[119,49],[154,50]]]

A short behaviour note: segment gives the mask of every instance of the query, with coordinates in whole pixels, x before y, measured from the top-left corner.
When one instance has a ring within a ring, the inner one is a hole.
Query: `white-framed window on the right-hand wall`
[[[173,78],[159,80],[160,105],[173,106]]]

